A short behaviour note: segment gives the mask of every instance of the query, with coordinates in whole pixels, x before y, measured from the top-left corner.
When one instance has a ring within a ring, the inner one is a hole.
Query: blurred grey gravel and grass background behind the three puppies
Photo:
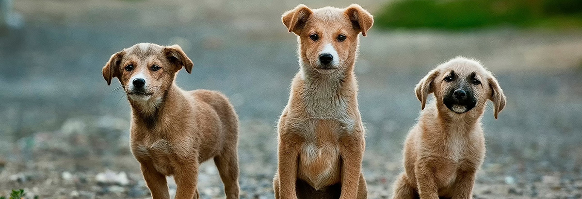
[[[154,42],[193,60],[180,87],[228,95],[241,122],[241,197],[273,198],[276,121],[299,69],[281,14],[299,3],[360,3],[375,16],[356,63],[370,198],[389,197],[402,170],[415,84],[457,55],[480,59],[508,97],[499,120],[491,107],[482,119],[474,197],[582,198],[580,0],[0,0],[0,196],[150,197],[129,151],[129,104],[101,68]],[[214,163],[198,182],[201,198],[223,198]]]

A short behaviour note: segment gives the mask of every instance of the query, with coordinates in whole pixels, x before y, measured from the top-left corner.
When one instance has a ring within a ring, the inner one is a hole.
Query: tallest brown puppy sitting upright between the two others
[[[282,21],[297,35],[300,71],[278,124],[275,198],[366,198],[354,62],[372,15],[356,4],[299,5]]]

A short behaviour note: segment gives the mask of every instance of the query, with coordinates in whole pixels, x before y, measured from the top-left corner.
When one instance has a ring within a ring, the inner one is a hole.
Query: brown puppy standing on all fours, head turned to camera
[[[198,165],[214,158],[226,198],[239,198],[239,119],[217,91],[184,91],[174,79],[193,63],[178,45],[136,44],[111,56],[103,77],[118,77],[132,106],[131,148],[153,198],[169,198],[173,175],[176,198],[198,198]]]

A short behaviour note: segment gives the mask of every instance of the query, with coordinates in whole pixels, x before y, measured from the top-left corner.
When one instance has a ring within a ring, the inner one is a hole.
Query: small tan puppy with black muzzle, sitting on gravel
[[[424,105],[428,94],[435,101]],[[485,157],[481,116],[487,100],[495,119],[505,95],[478,61],[458,57],[439,65],[416,86],[422,102],[418,123],[404,144],[404,170],[393,198],[471,198],[475,173]]]

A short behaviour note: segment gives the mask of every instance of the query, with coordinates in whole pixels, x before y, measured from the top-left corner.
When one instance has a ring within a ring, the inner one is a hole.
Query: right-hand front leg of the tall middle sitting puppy
[[[360,136],[346,136],[340,138],[340,154],[342,155],[342,194],[340,199],[355,199],[361,177],[361,165],[364,155],[364,138]],[[360,193],[359,198],[367,197],[367,193]]]

